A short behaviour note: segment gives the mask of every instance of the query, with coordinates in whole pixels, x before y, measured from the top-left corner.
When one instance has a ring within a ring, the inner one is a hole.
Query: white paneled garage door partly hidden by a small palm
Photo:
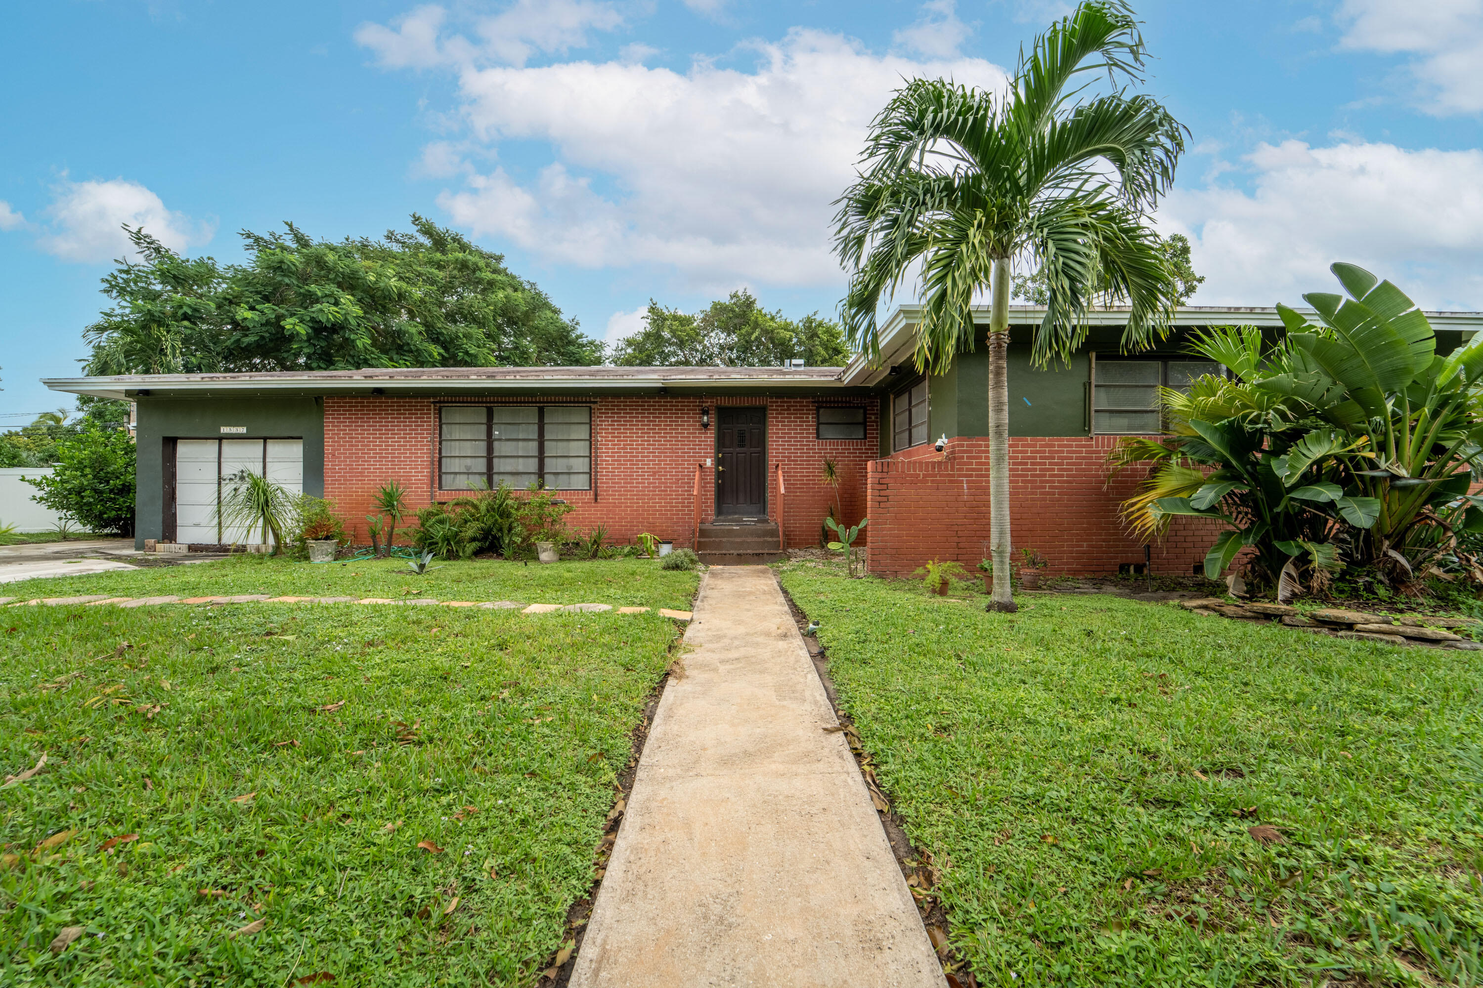
[[[221,489],[240,471],[267,474],[289,493],[304,490],[301,438],[182,438],[175,441],[175,541],[231,545],[258,542],[262,530],[224,527]]]

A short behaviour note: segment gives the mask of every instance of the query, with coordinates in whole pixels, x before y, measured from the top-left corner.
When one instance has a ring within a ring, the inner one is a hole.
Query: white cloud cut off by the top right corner
[[[1336,16],[1347,28],[1341,47],[1413,56],[1427,113],[1483,111],[1483,0],[1344,0]]]

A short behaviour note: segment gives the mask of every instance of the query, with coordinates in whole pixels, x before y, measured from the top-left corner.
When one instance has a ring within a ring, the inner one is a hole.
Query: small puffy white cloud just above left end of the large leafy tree
[[[123,178],[107,182],[64,182],[46,210],[50,233],[40,246],[65,261],[111,261],[133,252],[123,224],[144,227],[172,250],[211,240],[212,224],[194,222],[165,209],[160,197]]]

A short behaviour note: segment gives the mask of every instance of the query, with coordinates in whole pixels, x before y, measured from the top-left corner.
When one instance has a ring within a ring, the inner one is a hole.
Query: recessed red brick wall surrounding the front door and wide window
[[[553,398],[553,401],[569,398]],[[448,398],[478,404],[478,398]],[[538,404],[521,398],[509,404]],[[435,398],[326,397],[325,496],[334,498],[347,529],[368,542],[365,515],[378,486],[397,480],[415,511],[436,492],[437,404]],[[865,440],[814,438],[813,398],[604,397],[593,398],[593,490],[561,492],[574,511],[568,524],[578,532],[602,523],[610,536],[630,542],[639,532],[690,545],[694,524],[696,465],[715,462],[715,425],[700,428],[700,409],[718,404],[767,406],[768,514],[777,520],[782,467],[786,496],[785,533],[790,545],[819,541],[819,524],[833,496],[820,480],[823,459],[839,464],[844,514],[857,521],[865,513],[866,465],[879,449],[878,403],[865,403]],[[701,468],[701,520],[715,515],[715,468]],[[863,539],[862,539],[863,542]]]

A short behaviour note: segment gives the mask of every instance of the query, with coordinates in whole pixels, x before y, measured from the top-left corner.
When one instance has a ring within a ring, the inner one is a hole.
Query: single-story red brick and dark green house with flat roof
[[[902,575],[927,558],[970,569],[988,529],[988,353],[940,376],[911,360],[918,310],[881,330],[881,358],[845,367],[437,367],[47,379],[56,391],[138,404],[136,541],[219,544],[219,480],[242,468],[335,499],[365,539],[380,484],[414,510],[482,483],[544,481],[574,505],[575,529],[651,532],[718,558],[819,542],[842,475],[845,518],[869,517],[869,569]],[[1136,483],[1108,486],[1120,435],[1158,430],[1155,388],[1215,370],[1183,353],[1204,326],[1278,329],[1269,308],[1180,308],[1158,348],[1120,353],[1126,310],[1094,313],[1069,364],[1031,366],[1044,310],[1011,308],[1010,456],[1016,547],[1050,573],[1142,563],[1118,518]],[[1439,350],[1483,329],[1479,313],[1428,313]],[[988,323],[988,310],[979,314]],[[943,449],[936,449],[937,440]],[[1182,520],[1152,547],[1154,572],[1188,573],[1210,533]],[[733,527],[742,526],[742,527]],[[697,544],[698,539],[698,544]],[[237,536],[237,541],[248,541]]]

